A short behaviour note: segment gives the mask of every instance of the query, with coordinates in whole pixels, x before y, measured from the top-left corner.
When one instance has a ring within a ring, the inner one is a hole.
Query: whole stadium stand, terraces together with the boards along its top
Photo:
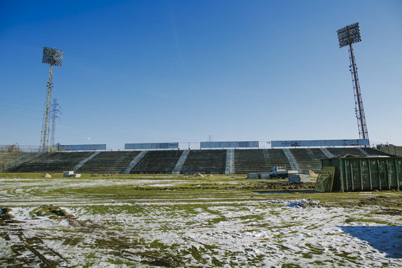
[[[131,143],[141,150],[105,151],[105,145],[91,145],[91,151],[77,146],[71,151],[51,153],[1,152],[4,172],[63,172],[74,170],[100,174],[245,174],[268,172],[275,165],[300,172],[319,172],[321,160],[343,155],[358,157],[394,156],[377,148],[363,147],[356,140],[343,146],[297,148],[304,143],[279,143],[283,148],[258,148],[258,142],[201,143],[200,149],[181,150],[179,143]],[[359,141],[359,140],[357,140]],[[328,143],[328,141],[323,141]],[[349,144],[350,143],[350,144]],[[273,142],[273,144],[278,144]],[[290,146],[284,146],[290,144]],[[358,144],[359,146],[356,146]],[[256,147],[257,148],[254,148]],[[292,147],[291,147],[292,146]],[[250,148],[251,147],[251,148]],[[69,148],[65,146],[64,148]],[[101,148],[102,151],[96,150]]]

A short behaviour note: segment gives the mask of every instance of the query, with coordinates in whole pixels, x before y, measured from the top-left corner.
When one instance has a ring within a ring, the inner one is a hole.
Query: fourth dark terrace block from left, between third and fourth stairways
[[[181,168],[181,174],[224,174],[226,150],[191,150]]]

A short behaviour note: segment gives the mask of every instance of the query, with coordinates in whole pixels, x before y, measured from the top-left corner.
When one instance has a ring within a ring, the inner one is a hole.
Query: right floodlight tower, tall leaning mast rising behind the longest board
[[[337,30],[339,47],[349,46],[349,70],[351,71],[351,77],[354,88],[354,102],[355,113],[358,125],[358,135],[360,139],[368,139],[367,125],[365,124],[363,99],[361,98],[360,84],[358,83],[358,74],[356,59],[354,57],[353,44],[361,42],[360,30],[358,23],[347,25],[342,29]]]

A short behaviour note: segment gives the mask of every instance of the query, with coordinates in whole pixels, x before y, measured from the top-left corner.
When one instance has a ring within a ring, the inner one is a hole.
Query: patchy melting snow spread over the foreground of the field
[[[61,181],[46,189],[68,187]],[[86,187],[91,181],[74,183]],[[18,246],[31,243],[58,267],[402,266],[402,217],[376,214],[379,208],[325,208],[302,199],[63,196],[53,203],[72,218],[31,217],[39,200],[46,199],[34,194],[41,186],[19,180],[1,184],[6,194],[1,192],[0,206],[12,209],[15,222],[0,225],[0,265],[39,264]]]

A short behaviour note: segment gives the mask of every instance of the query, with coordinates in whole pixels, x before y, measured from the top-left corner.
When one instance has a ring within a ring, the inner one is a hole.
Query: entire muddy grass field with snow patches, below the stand
[[[245,175],[0,173],[2,267],[401,267],[402,194]],[[304,188],[305,187],[305,188]]]

